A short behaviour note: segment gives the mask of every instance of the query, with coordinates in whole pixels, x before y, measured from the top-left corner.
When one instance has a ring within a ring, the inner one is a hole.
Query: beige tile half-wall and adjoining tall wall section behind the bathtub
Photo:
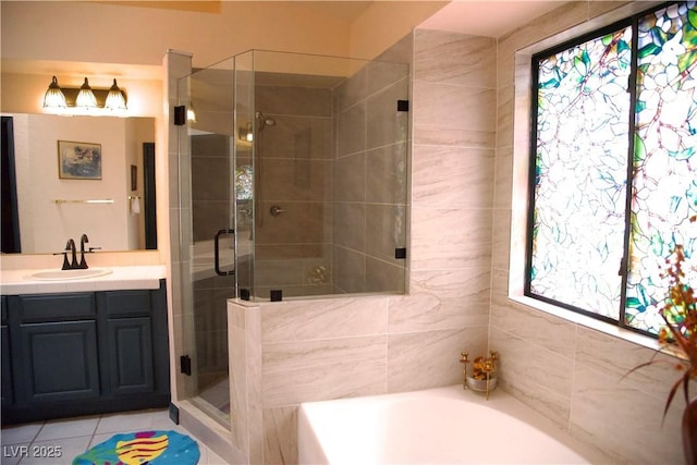
[[[416,30],[384,58],[413,62],[408,295],[229,304],[252,463],[296,462],[301,402],[455,384],[460,352],[487,348],[496,41]]]

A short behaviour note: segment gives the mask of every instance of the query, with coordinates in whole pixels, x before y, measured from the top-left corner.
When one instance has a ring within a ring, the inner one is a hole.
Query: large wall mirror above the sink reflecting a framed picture
[[[2,167],[16,211],[3,253],[62,252],[83,233],[101,252],[157,248],[154,118],[2,113]]]

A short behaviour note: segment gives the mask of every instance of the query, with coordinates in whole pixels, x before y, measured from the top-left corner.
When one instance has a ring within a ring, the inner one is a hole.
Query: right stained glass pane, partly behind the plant
[[[681,2],[638,25],[631,262],[625,322],[657,333],[675,244],[697,252],[697,10]],[[695,273],[695,270],[692,270]],[[688,282],[695,282],[694,277]]]

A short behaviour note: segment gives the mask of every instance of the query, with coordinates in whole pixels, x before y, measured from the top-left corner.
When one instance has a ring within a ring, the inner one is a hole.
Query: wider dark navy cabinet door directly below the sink
[[[99,396],[96,321],[20,325],[20,343],[13,375],[23,402]]]

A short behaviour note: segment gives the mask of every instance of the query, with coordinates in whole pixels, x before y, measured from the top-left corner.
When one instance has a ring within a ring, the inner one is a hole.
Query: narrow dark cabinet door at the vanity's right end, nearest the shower
[[[150,318],[113,318],[107,326],[111,392],[114,395],[152,392]]]

